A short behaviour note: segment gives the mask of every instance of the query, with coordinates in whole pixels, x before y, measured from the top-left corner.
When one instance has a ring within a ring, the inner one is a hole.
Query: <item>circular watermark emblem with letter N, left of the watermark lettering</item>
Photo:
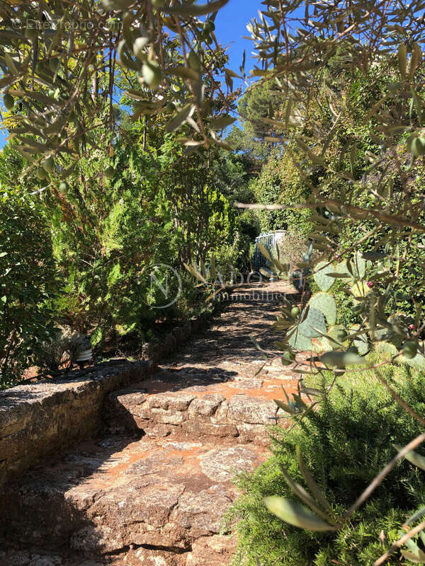
[[[139,283],[147,289],[144,301],[150,308],[168,308],[181,295],[179,272],[165,263],[147,265],[140,274]]]

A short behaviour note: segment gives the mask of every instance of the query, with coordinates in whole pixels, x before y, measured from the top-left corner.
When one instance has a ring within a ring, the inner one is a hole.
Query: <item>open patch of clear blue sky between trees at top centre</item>
[[[242,39],[242,35],[249,35],[246,24],[257,16],[259,8],[261,8],[261,0],[230,0],[217,14],[215,33],[221,44],[224,47],[228,46],[228,67],[236,72],[239,72],[244,50],[246,50],[245,70],[249,71],[252,67],[252,42]],[[234,86],[237,86],[238,82],[235,79]],[[0,148],[5,142],[6,132],[0,129]]]

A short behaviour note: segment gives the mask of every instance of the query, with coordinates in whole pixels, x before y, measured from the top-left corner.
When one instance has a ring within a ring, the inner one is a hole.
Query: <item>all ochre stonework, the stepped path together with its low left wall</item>
[[[144,347],[148,362],[0,392],[0,566],[229,566],[234,473],[266,458],[273,398],[297,382],[261,370],[250,338],[273,347],[279,306],[232,301],[208,333],[198,319]]]

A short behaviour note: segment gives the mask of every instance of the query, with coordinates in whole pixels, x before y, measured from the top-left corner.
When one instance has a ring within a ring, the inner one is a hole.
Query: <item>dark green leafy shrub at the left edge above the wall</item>
[[[42,245],[40,245],[42,243]],[[35,363],[53,331],[57,270],[50,233],[28,197],[0,192],[0,388]]]

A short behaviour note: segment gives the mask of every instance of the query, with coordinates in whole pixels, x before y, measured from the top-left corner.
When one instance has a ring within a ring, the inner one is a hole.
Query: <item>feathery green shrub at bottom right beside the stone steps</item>
[[[405,366],[386,366],[385,374],[400,395],[424,414],[424,379]],[[324,381],[329,381],[327,376]],[[313,380],[311,380],[313,381]],[[309,383],[318,386],[318,383]],[[324,386],[324,383],[321,383]],[[280,472],[288,470],[305,485],[295,457],[296,446],[314,479],[336,512],[344,512],[395,455],[392,443],[407,444],[423,432],[421,425],[395,403],[372,371],[349,372],[339,378],[329,398],[293,429],[277,429],[272,456],[254,473],[239,475],[243,495],[229,513],[237,521],[239,550],[234,564],[261,566],[370,565],[397,538],[397,529],[425,499],[424,472],[407,461],[392,470],[368,502],[336,533],[303,531],[283,523],[263,505],[263,497],[297,500]],[[334,562],[336,561],[336,562]],[[399,564],[395,553],[385,562]]]

